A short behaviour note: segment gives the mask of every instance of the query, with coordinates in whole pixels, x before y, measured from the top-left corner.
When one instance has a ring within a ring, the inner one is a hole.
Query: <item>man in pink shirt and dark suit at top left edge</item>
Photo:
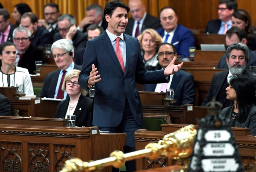
[[[0,9],[0,44],[6,41],[12,41],[12,32],[15,29],[10,23],[10,13],[6,9]]]

